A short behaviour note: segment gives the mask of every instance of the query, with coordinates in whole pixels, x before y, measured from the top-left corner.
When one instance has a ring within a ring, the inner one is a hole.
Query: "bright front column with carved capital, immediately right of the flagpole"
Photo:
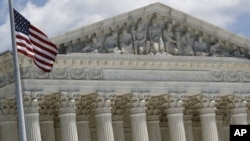
[[[34,92],[25,92],[24,116],[27,141],[41,141],[38,110],[38,95]]]

